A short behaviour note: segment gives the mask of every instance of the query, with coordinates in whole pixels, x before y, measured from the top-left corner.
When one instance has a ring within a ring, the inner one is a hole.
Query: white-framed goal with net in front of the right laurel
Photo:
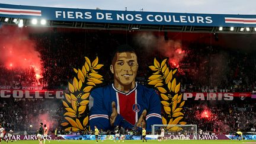
[[[164,139],[188,140],[197,139],[196,124],[154,124],[152,126],[152,135],[156,138],[161,136],[161,129],[164,132]]]

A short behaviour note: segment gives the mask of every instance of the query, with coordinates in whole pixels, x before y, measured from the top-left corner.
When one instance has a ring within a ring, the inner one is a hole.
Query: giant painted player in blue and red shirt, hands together
[[[99,129],[124,129],[162,124],[159,95],[152,88],[135,82],[137,56],[132,47],[117,48],[110,65],[114,84],[96,88],[90,95],[89,123]]]

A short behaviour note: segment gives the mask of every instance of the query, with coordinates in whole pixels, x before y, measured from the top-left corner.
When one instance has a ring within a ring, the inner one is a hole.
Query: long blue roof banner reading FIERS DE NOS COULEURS
[[[0,4],[0,17],[91,23],[255,27],[256,15],[110,11]]]

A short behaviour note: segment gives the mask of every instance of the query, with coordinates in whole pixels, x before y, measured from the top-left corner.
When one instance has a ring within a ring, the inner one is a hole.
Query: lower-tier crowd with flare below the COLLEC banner
[[[0,101],[0,123],[7,130],[31,132],[38,130],[41,122],[56,129],[62,113],[62,103],[57,100],[7,98]]]

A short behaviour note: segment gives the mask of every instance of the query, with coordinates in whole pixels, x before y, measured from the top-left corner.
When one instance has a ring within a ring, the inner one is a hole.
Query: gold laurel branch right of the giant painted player
[[[185,121],[181,121],[184,116],[181,110],[183,110],[185,101],[182,100],[180,83],[175,78],[177,69],[169,68],[167,59],[164,59],[160,65],[156,58],[154,59],[153,66],[149,66],[149,68],[154,73],[149,76],[148,84],[154,85],[154,88],[160,92],[162,107],[164,107],[165,111],[164,116],[162,116],[162,123],[187,124]],[[177,132],[181,128],[167,126],[167,130]]]

